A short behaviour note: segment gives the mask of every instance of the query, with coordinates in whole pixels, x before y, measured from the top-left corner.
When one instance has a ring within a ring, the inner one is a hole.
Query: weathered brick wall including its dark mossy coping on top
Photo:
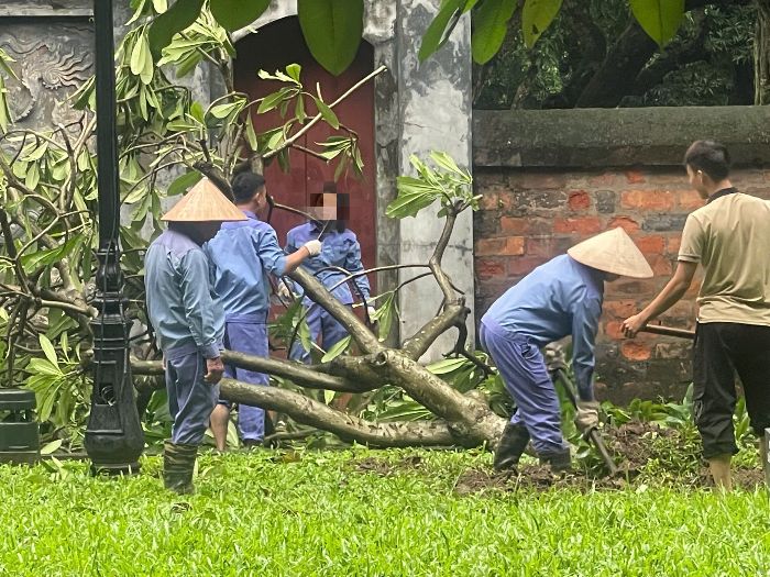
[[[597,341],[598,376],[606,385],[602,398],[625,402],[635,397],[681,397],[691,378],[691,343],[652,335],[629,341],[620,334],[619,325],[668,281],[675,266],[684,220],[703,204],[688,186],[680,164],[691,140],[724,137],[737,151],[738,164],[743,165],[734,173],[735,185],[741,191],[770,198],[770,170],[761,168],[768,159],[770,142],[766,131],[747,130],[746,141],[754,144],[737,142],[751,118],[747,111],[752,110],[714,110],[733,135],[716,125],[707,126],[701,134],[685,130],[676,135],[681,111],[637,112],[636,125],[626,124],[620,132],[625,142],[617,147],[608,134],[614,130],[609,125],[617,125],[618,111],[602,111],[605,120],[596,120],[596,111],[588,111],[592,130],[583,137],[574,129],[586,118],[581,111],[571,111],[572,119],[562,116],[561,126],[550,124],[548,112],[540,113],[549,125],[543,131],[547,134],[538,131],[542,126],[537,115],[530,115],[529,132],[519,138],[502,137],[505,122],[498,113],[476,113],[474,178],[476,191],[483,195],[482,210],[474,222],[477,319],[536,266],[587,236],[623,226],[645,253],[656,276],[607,285]],[[661,138],[651,140],[654,130],[650,126],[654,122],[646,114],[671,123]],[[510,124],[508,127],[514,129]],[[594,141],[591,149],[581,147],[581,142],[584,145],[590,140]],[[514,164],[510,158],[531,154],[532,145],[542,153],[521,163],[530,166],[509,166]],[[506,146],[510,148],[506,151]],[[491,160],[495,154],[498,159]],[[612,163],[606,160],[610,156]],[[642,157],[646,166],[637,165],[635,160]],[[537,164],[541,166],[531,166]],[[560,164],[584,167],[556,166]],[[694,326],[697,288],[698,282],[693,284],[686,299],[661,318],[664,324]]]

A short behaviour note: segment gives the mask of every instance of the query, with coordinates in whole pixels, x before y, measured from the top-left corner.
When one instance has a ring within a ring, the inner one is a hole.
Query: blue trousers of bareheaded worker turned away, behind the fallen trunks
[[[224,348],[237,353],[267,357],[267,325],[265,319],[238,319],[224,323]],[[224,365],[224,376],[250,385],[270,385],[270,377],[234,365]],[[226,401],[220,401],[228,404]],[[262,441],[265,437],[265,410],[250,404],[238,406],[238,432],[242,441]]]

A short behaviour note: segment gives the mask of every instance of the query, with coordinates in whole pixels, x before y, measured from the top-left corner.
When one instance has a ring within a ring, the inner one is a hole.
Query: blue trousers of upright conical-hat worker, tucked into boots
[[[166,359],[168,412],[174,419],[172,443],[200,445],[219,399],[219,385],[204,380],[206,359],[200,353],[169,355]]]

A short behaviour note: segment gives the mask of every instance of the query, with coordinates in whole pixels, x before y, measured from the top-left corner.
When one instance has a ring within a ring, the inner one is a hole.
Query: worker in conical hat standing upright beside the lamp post
[[[224,314],[201,245],[222,222],[245,220],[202,179],[164,217],[168,229],[147,249],[144,284],[150,322],[163,352],[172,437],[164,445],[167,489],[193,492],[198,446],[219,398]]]

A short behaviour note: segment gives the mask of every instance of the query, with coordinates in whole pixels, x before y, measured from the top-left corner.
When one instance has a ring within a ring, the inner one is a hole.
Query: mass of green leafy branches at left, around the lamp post
[[[227,2],[215,2],[221,9]],[[234,47],[210,12],[195,12],[196,2],[134,0],[132,27],[116,54],[120,196],[123,222],[121,266],[127,278],[129,317],[144,325],[143,253],[148,234],[160,232],[163,203],[183,193],[206,174],[229,180],[240,163],[277,158],[288,169],[288,149],[300,131],[317,123],[340,127],[333,103],[320,87],[305,90],[301,69],[261,71],[263,79],[282,86],[251,101],[233,90],[231,58]],[[184,24],[183,29],[170,30]],[[165,29],[164,29],[165,26]],[[170,34],[170,36],[169,36]],[[158,41],[157,37],[161,37]],[[168,37],[169,42],[163,41]],[[158,49],[158,42],[164,44]],[[179,78],[201,63],[219,73],[227,91],[205,104],[193,98]],[[0,52],[0,80],[13,74],[14,63]],[[96,151],[95,82],[85,82],[72,96],[81,119],[48,131],[13,129],[6,92],[0,87],[0,311],[2,356],[0,370],[9,385],[26,385],[37,393],[46,435],[58,435],[77,446],[88,411],[88,321],[96,271]],[[256,132],[253,118],[278,110],[282,124]],[[338,174],[362,168],[358,136],[332,132],[318,144]],[[10,242],[9,242],[10,241]],[[305,324],[305,328],[307,325]],[[153,335],[136,335],[143,354],[153,358]],[[300,337],[307,337],[307,331]],[[51,343],[56,343],[52,348]],[[69,343],[76,343],[70,349]],[[55,355],[53,352],[55,351]],[[81,363],[82,360],[82,363]],[[158,422],[160,423],[160,422]],[[151,428],[154,425],[150,425]],[[161,428],[164,425],[161,424]]]

